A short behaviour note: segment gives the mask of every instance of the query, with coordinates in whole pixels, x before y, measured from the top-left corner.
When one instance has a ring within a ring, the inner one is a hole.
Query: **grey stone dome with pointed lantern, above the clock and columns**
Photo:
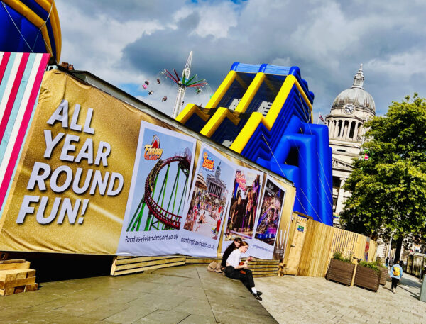
[[[376,105],[373,97],[363,88],[364,74],[362,72],[362,64],[354,77],[354,84],[351,88],[342,91],[333,101],[332,108],[341,108],[346,104],[353,104],[356,108],[364,108],[376,113]]]

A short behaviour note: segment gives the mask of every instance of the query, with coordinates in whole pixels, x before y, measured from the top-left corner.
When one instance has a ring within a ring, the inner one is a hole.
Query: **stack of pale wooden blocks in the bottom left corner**
[[[9,296],[38,289],[35,270],[23,259],[0,261],[0,296]]]

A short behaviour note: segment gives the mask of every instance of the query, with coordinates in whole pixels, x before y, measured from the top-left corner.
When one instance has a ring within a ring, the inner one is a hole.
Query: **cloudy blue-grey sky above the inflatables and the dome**
[[[352,85],[364,64],[364,89],[383,115],[407,94],[426,96],[426,1],[56,0],[61,61],[87,70],[171,114],[173,84],[163,69],[192,73],[212,91],[233,62],[297,65],[315,93],[315,121]],[[153,96],[141,88],[151,82]],[[206,104],[211,92],[187,91]],[[168,101],[160,99],[168,96]]]

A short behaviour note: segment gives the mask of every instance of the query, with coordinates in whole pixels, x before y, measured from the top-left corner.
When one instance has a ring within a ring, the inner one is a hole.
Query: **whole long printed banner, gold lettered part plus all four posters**
[[[217,257],[230,242],[222,244],[224,230],[270,259],[276,238],[285,238],[277,226],[290,223],[294,187],[146,111],[45,72],[10,167],[0,250]]]

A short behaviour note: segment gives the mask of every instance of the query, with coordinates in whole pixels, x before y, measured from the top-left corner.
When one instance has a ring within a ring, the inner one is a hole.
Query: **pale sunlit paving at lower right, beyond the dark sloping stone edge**
[[[283,276],[258,278],[261,303],[282,324],[426,323],[426,303],[419,300],[421,282],[403,274],[396,293],[391,282],[378,292],[347,287],[324,278]]]

